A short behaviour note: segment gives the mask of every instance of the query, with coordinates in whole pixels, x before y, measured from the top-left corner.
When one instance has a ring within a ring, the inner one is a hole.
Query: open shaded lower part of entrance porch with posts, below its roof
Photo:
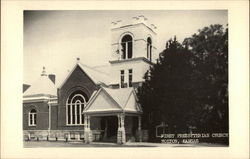
[[[99,120],[100,129],[92,126]],[[142,141],[141,117],[138,114],[114,113],[114,114],[89,114],[85,115],[84,141],[91,143],[116,142],[124,144],[128,141]]]

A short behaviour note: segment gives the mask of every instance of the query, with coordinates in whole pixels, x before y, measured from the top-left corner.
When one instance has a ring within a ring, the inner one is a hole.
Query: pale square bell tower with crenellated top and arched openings
[[[119,88],[137,87],[154,62],[156,54],[156,26],[143,16],[129,21],[111,23],[112,73],[117,77],[113,85]]]

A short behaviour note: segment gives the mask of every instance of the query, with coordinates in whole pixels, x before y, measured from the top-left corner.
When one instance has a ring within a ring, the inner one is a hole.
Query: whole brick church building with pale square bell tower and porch
[[[58,87],[56,76],[44,67],[38,80],[24,90],[25,140],[121,144],[147,140],[136,91],[154,63],[156,26],[143,15],[111,25],[108,66],[90,67],[77,58]]]

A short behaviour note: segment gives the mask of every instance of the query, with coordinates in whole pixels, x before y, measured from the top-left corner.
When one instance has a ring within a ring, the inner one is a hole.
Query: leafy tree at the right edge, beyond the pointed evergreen
[[[228,132],[228,29],[210,25],[186,38],[194,55],[194,93],[200,131]]]

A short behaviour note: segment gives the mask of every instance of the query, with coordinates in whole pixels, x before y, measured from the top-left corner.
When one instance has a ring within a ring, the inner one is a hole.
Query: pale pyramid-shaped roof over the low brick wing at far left
[[[48,76],[42,75],[24,92],[24,96],[30,95],[57,96],[57,88]]]

